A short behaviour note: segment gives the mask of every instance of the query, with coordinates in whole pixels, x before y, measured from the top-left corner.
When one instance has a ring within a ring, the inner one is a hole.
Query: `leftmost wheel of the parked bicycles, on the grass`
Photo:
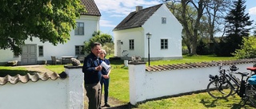
[[[224,99],[232,94],[233,88],[230,83],[213,80],[207,85],[207,92],[215,99]]]

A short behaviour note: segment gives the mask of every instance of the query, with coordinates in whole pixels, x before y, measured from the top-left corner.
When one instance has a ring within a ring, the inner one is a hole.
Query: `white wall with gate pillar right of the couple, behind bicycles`
[[[247,71],[253,64],[236,64],[238,72]],[[129,64],[130,103],[135,105],[146,99],[178,95],[191,91],[205,90],[209,75],[218,75],[218,66],[146,72],[146,64]],[[228,68],[229,66],[223,66]],[[240,78],[241,76],[237,76]]]

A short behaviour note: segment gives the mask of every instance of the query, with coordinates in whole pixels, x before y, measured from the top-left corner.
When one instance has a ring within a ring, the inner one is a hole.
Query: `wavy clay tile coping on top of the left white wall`
[[[62,73],[65,73],[65,72],[62,72]],[[62,73],[60,75],[63,75]],[[8,82],[10,84],[17,84],[18,82],[22,82],[23,84],[25,84],[25,83],[29,82],[30,80],[33,82],[36,82],[38,80],[46,81],[49,78],[51,80],[57,80],[58,78],[66,78],[66,76],[61,77],[60,75],[58,75],[58,73],[56,73],[56,72],[54,72],[50,75],[46,72],[43,74],[36,73],[34,75],[27,73],[25,76],[21,76],[19,74],[16,76],[7,75],[5,77],[0,77],[0,85],[4,85]]]

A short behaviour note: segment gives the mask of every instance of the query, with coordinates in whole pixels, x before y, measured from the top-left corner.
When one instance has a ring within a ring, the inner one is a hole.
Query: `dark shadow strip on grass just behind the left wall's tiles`
[[[25,71],[25,70],[8,70],[8,69],[0,69],[0,77],[5,77],[7,75],[16,76],[17,74],[21,76],[25,76],[27,73],[35,74],[34,71]]]

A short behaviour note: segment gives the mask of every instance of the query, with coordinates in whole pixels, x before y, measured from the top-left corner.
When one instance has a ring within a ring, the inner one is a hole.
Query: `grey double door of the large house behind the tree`
[[[37,45],[22,46],[22,64],[37,64]]]

